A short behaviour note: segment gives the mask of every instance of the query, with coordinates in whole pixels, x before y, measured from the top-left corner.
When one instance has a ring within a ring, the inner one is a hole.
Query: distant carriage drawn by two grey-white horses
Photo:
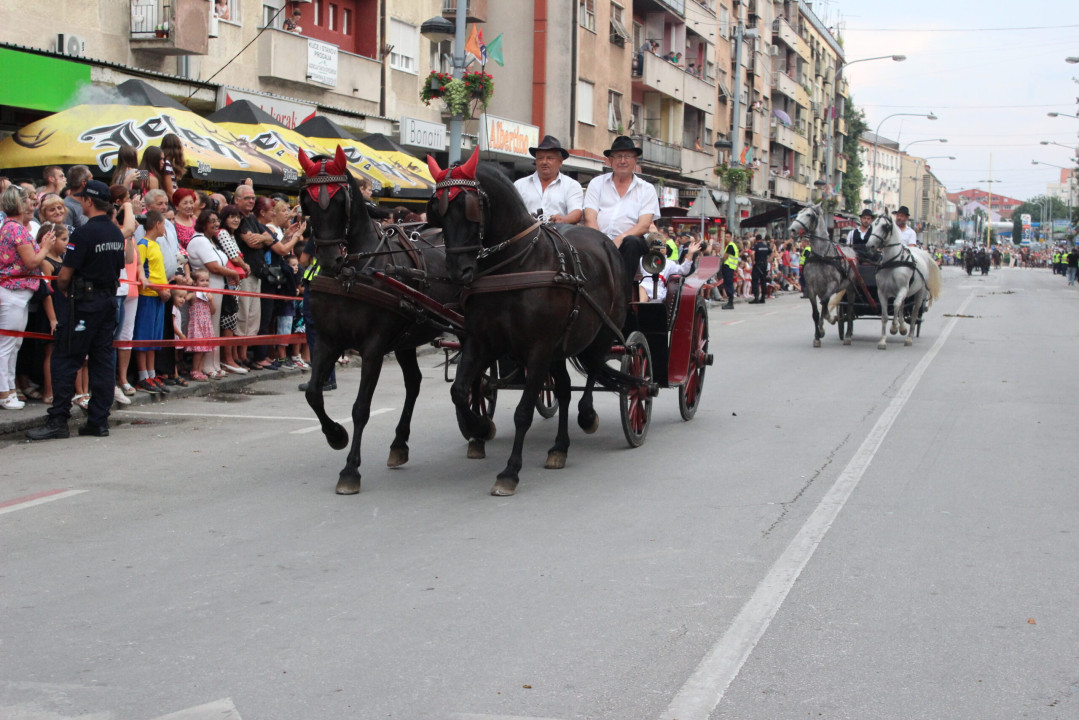
[[[876,218],[871,228],[866,249],[879,248],[873,259],[824,236],[819,204],[804,208],[791,222],[790,231],[808,235],[811,243],[803,289],[812,307],[815,348],[824,337],[824,320],[837,323],[845,345],[851,343],[856,318],[880,321],[880,350],[887,349],[889,317],[891,334],[905,336],[904,344],[921,336],[921,317],[940,295],[940,268],[928,253],[902,244],[890,217]]]

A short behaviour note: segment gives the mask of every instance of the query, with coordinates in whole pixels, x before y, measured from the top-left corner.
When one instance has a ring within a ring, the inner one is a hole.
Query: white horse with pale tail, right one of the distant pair
[[[928,296],[929,304],[940,297],[941,271],[928,253],[918,247],[906,247],[899,236],[899,229],[887,215],[873,220],[866,247],[880,248],[880,267],[876,272],[877,299],[880,302],[880,342],[878,350],[887,350],[888,300],[891,309],[891,334],[905,335],[904,345],[914,344],[914,330],[918,325],[921,305]],[[904,323],[903,305],[911,301],[911,324]]]

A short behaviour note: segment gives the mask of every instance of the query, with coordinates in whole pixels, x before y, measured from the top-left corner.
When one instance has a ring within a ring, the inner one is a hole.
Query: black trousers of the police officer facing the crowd
[[[64,422],[71,417],[74,377],[88,358],[87,419],[92,425],[108,427],[109,408],[112,407],[117,384],[117,353],[112,349],[112,336],[117,329],[115,303],[111,296],[101,295],[79,302],[72,309],[63,296],[57,295],[54,308],[57,324],[50,364],[53,371],[53,406],[49,408],[49,417]]]

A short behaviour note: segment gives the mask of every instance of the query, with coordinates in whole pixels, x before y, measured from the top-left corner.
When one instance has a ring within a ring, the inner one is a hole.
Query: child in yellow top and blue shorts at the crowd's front
[[[165,285],[165,262],[159,241],[165,234],[165,218],[158,210],[146,214],[146,236],[138,241],[138,259],[148,285],[138,291],[138,311],[135,313],[135,340],[161,340],[165,330],[165,302],[172,297],[167,289],[151,285]],[[154,354],[159,348],[140,348],[135,354],[138,368],[136,386],[151,395],[167,393],[165,383],[154,370]]]

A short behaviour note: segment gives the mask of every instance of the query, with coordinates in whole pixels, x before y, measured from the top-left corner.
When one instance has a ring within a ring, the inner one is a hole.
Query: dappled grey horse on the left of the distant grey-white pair
[[[791,221],[790,233],[808,236],[812,250],[802,269],[802,289],[812,307],[814,348],[820,348],[820,340],[824,337],[824,320],[835,325],[835,307],[844,294],[851,289],[858,273],[857,264],[851,264],[857,263],[853,249],[833,243],[828,239],[827,232],[820,203],[803,208]],[[846,307],[850,316],[839,318],[838,329],[843,344],[849,345],[853,330],[853,305],[847,303]],[[846,332],[843,321],[846,321]]]

